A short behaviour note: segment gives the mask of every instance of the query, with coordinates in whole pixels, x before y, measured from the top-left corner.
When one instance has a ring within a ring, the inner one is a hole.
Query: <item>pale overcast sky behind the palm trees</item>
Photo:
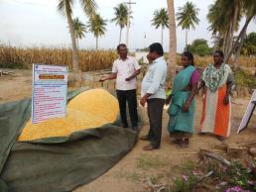
[[[128,1],[128,0],[127,0]],[[188,0],[176,0],[175,9],[185,5]],[[195,39],[205,39],[212,46],[206,14],[208,6],[214,0],[191,0],[199,9],[199,24],[189,32],[189,44]],[[0,43],[21,47],[70,47],[70,37],[66,19],[57,11],[59,0],[0,0]],[[78,2],[78,0],[76,0]],[[99,39],[99,48],[116,48],[119,41],[119,27],[110,20],[114,17],[113,7],[125,0],[96,0],[97,12],[109,22],[106,34]],[[131,23],[129,48],[146,48],[161,41],[161,30],[151,25],[153,13],[157,9],[167,8],[166,0],[133,0],[133,20]],[[84,24],[88,19],[79,4],[74,4],[73,18],[78,17]],[[244,23],[244,19],[242,23]],[[242,26],[242,25],[241,25]],[[247,32],[256,32],[256,22],[251,22]],[[146,34],[146,38],[145,38]],[[122,42],[125,43],[126,29]],[[79,42],[79,48],[95,48],[95,38],[87,33]],[[164,32],[164,49],[169,48],[169,33]],[[185,47],[185,31],[177,28],[177,48]]]

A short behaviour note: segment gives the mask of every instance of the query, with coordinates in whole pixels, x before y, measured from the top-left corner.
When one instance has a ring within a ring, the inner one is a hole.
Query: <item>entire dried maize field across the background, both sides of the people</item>
[[[63,64],[71,68],[71,53],[70,48],[22,48],[0,45],[0,68],[28,69],[32,68],[32,63]],[[110,68],[114,59],[118,56],[115,49],[80,49],[78,53],[80,70],[83,72]],[[142,62],[147,62],[145,56],[140,56],[147,53],[133,52],[132,54]],[[167,54],[165,54],[165,57],[168,59]],[[233,61],[233,58],[231,58],[230,63]],[[194,55],[194,63],[197,67],[205,67],[211,62],[211,55]],[[256,56],[241,55],[238,58],[238,63],[243,68],[255,69]],[[177,55],[177,65],[181,65],[180,54]]]

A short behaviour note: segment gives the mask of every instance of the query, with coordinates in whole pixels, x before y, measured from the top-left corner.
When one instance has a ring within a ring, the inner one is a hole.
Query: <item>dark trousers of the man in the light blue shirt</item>
[[[154,148],[159,148],[162,136],[162,118],[165,99],[149,99],[147,103],[150,122],[150,130],[147,137]]]

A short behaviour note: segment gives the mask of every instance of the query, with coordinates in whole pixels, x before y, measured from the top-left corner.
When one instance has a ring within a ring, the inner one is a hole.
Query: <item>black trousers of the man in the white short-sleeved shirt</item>
[[[128,128],[128,122],[126,117],[126,101],[127,101],[132,127],[137,127],[138,112],[137,112],[136,89],[126,90],[126,91],[116,90],[116,95],[119,103],[119,109],[120,109],[123,126]]]

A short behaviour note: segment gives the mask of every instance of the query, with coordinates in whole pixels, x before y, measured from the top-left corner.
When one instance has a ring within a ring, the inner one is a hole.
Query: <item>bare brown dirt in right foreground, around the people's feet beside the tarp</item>
[[[252,119],[249,128],[236,135],[237,127],[240,123],[242,113],[245,111],[247,101],[237,101],[240,104],[233,105],[232,135],[226,141],[227,144],[247,144],[256,142],[256,117]],[[197,105],[196,128],[200,118],[200,105]],[[146,116],[144,110],[144,116]],[[194,135],[189,148],[180,148],[170,143],[170,137],[166,129],[168,116],[164,112],[163,137],[161,148],[154,151],[143,151],[142,147],[147,142],[139,141],[138,144],[119,163],[106,172],[101,177],[81,186],[74,192],[143,192],[147,185],[143,182],[146,177],[151,177],[157,183],[168,184],[179,172],[179,165],[186,164],[189,160],[197,160],[199,148],[214,149],[214,146],[221,144],[211,136]],[[145,125],[141,135],[148,131]]]

